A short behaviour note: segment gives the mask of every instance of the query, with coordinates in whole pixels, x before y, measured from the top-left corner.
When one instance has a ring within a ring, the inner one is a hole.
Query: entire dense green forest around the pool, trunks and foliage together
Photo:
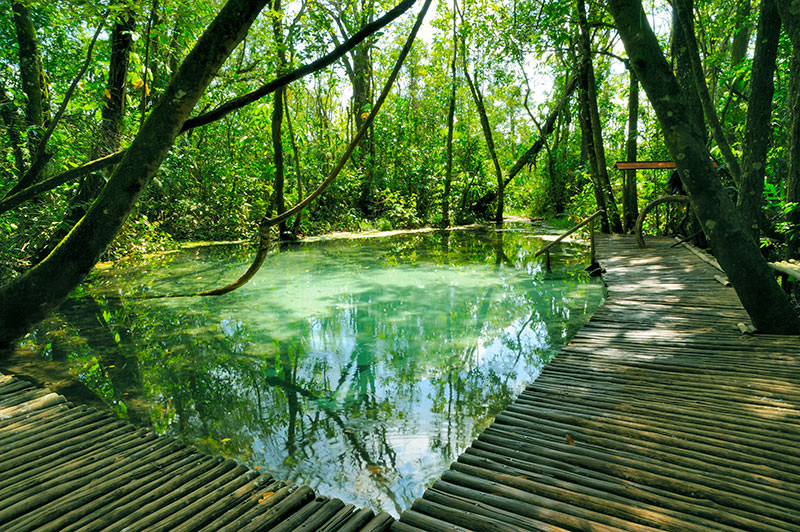
[[[800,251],[798,6],[4,0],[0,344],[104,258],[250,239],[253,270],[278,238],[597,210],[622,233],[684,190],[755,326],[798,332],[765,260]],[[614,168],[648,160],[681,182]]]

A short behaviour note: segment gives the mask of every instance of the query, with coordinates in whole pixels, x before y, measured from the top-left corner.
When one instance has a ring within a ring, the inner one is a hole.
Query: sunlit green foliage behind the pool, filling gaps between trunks
[[[747,109],[747,101],[741,95],[747,93],[751,67],[747,58],[751,55],[746,54],[744,60],[734,64],[731,47],[737,34],[752,34],[756,10],[740,12],[741,2],[736,0],[695,3],[698,28],[702,28],[698,38],[712,98],[733,139],[734,150],[738,150]],[[283,2],[280,16],[276,12],[265,13],[257,20],[247,40],[219,71],[196,112],[212,109],[274,79],[280,71],[319,57],[392,5],[377,0],[346,5]],[[412,48],[367,139],[333,185],[303,213],[300,234],[439,223],[453,54],[452,5],[436,3],[423,31],[424,41]],[[220,2],[166,2],[149,24],[151,4],[131,4],[136,27],[127,73],[123,146],[138,131],[144,118],[141,109],[145,114],[149,112],[219,6]],[[539,137],[538,128],[560,96],[566,74],[575,70],[575,25],[570,2],[462,0],[459,6],[463,18],[457,17],[459,73],[449,204],[451,220],[468,223],[479,221],[492,211],[491,205],[484,205],[483,211],[478,206],[495,192],[497,185],[463,69],[466,67],[474,76],[483,94],[500,165],[507,171]],[[89,39],[100,22],[101,8],[99,4],[66,0],[34,3],[31,9],[52,115],[85,57]],[[112,6],[108,23],[120,9],[122,4]],[[657,22],[658,37],[666,47],[670,30],[668,7],[655,4],[650,9]],[[627,72],[612,57],[619,49],[608,28],[608,16],[592,5],[589,17],[597,28],[593,42],[599,52],[594,57],[595,71],[606,164],[610,167],[625,157]],[[273,27],[278,20],[283,27],[280,43]],[[359,119],[354,113],[371,107],[411,23],[409,14],[370,37],[366,45],[346,56],[347,61],[288,87],[286,114],[292,122],[293,138],[286,118],[282,132],[287,205],[300,201],[333,169],[355,133]],[[54,132],[49,144],[53,156],[46,175],[80,165],[96,149],[106,99],[109,34],[101,34],[89,69]],[[0,88],[9,99],[3,109],[22,117],[26,95],[18,79],[16,35],[7,8],[0,10],[0,48],[4,52],[0,55]],[[286,56],[286,64],[279,64],[279,48]],[[790,53],[791,44],[783,39],[779,72],[789,71]],[[356,71],[358,76],[353,75]],[[776,78],[773,148],[767,171],[767,181],[774,192],[765,190],[767,219],[777,233],[787,237],[794,231],[787,222],[782,192],[788,160],[785,124],[791,114],[785,104],[788,77]],[[355,83],[359,79],[366,83],[366,100],[354,110]],[[144,191],[137,215],[126,224],[108,257],[169,248],[175,241],[252,238],[258,221],[269,213],[274,194],[271,113],[271,98],[264,98],[180,137],[153,185]],[[646,98],[640,115],[638,158],[668,160],[663,134]],[[15,127],[21,134],[16,146],[10,141]],[[20,169],[15,168],[17,152],[22,153],[24,165],[30,163],[32,154],[28,152],[24,124],[20,127],[5,118],[0,120],[0,140],[0,191],[7,191],[19,177]],[[581,141],[573,99],[535,163],[506,189],[507,208],[532,216],[581,216],[594,212]],[[667,177],[668,172],[639,173],[640,208],[664,193]],[[619,200],[621,177],[612,171],[611,178]],[[371,189],[368,208],[361,201],[365,188]],[[38,202],[0,215],[0,238],[6,243],[0,247],[0,272],[4,276],[13,277],[24,271],[53,245],[50,235],[59,229],[76,191],[76,183],[68,184]]]

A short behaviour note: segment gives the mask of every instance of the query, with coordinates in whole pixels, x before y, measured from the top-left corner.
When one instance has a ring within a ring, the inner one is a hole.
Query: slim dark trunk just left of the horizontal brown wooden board
[[[591,127],[592,144],[595,152],[595,163],[597,170],[596,181],[600,185],[600,194],[604,198],[605,217],[608,218],[609,229],[614,233],[622,232],[622,220],[617,209],[617,202],[614,199],[614,191],[611,188],[611,179],[608,176],[606,167],[606,150],[603,146],[603,126],[600,122],[600,111],[597,107],[597,89],[594,77],[594,65],[592,63],[591,36],[589,33],[589,22],[586,19],[586,5],[584,0],[577,0],[578,25],[580,34],[578,35],[578,50],[582,70],[584,72],[586,90],[586,105],[589,112],[589,125]]]

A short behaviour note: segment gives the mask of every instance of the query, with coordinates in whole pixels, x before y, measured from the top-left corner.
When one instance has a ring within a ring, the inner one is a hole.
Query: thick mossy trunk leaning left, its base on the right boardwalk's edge
[[[800,317],[722,188],[702,143],[702,125],[692,118],[686,106],[683,91],[661,53],[641,0],[609,0],[607,5],[636,76],[661,122],[667,147],[714,255],[753,324],[765,333],[800,334]]]

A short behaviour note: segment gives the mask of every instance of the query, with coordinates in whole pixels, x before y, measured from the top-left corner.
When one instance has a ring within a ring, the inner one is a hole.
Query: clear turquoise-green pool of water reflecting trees
[[[271,254],[221,297],[247,248],[92,276],[46,346],[118,413],[323,495],[397,515],[603,298],[529,225],[331,240]],[[38,333],[44,342],[44,333]]]

